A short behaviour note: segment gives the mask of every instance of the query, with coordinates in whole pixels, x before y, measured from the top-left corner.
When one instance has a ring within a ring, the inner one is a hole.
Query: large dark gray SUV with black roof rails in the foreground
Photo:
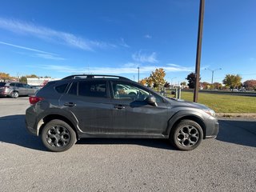
[[[27,130],[56,152],[80,138],[166,138],[178,150],[193,150],[218,134],[213,110],[119,76],[72,75],[48,82],[30,103]]]

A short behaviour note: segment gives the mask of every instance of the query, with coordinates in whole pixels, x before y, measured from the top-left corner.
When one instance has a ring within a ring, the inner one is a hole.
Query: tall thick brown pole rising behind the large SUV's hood
[[[195,65],[195,86],[194,86],[194,99],[193,99],[194,102],[198,102],[200,60],[201,60],[201,50],[202,50],[202,25],[203,25],[204,11],[205,11],[205,0],[200,0],[199,21],[198,21],[197,58],[196,58],[196,65]]]

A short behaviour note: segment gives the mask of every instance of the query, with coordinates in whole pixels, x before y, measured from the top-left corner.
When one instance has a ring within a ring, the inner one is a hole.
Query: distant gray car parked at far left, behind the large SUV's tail
[[[18,98],[23,95],[33,95],[37,88],[21,82],[0,82],[0,95]]]

